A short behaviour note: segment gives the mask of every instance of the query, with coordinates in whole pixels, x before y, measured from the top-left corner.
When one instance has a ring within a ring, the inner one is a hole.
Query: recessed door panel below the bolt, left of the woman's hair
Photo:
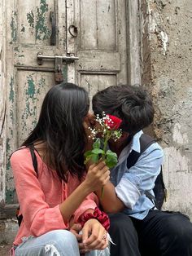
[[[47,90],[54,85],[52,73],[18,72],[17,81],[23,80],[17,87],[17,143],[20,145],[37,124],[41,102]]]

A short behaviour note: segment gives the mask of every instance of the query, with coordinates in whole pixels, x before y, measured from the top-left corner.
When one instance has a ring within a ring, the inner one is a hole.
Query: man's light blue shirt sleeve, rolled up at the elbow
[[[158,143],[153,143],[142,153],[135,166],[124,172],[120,183],[116,186],[116,195],[126,207],[133,210],[141,193],[154,188],[163,157],[162,148]]]

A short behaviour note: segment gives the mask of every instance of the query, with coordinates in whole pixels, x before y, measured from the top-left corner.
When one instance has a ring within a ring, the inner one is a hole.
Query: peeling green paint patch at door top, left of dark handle
[[[46,0],[40,1],[40,8],[37,7],[37,23],[35,26],[36,29],[36,39],[38,40],[46,40],[50,38],[50,29],[47,28],[46,24],[46,16],[49,11],[48,4],[46,4]]]

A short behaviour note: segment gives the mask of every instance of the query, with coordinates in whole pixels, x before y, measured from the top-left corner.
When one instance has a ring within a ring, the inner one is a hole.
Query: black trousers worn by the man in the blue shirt
[[[184,214],[150,210],[142,220],[123,213],[109,217],[116,244],[111,256],[192,256],[192,223]]]

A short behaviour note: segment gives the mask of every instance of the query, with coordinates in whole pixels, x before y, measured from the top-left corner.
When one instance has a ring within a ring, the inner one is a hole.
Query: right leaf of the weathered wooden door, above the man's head
[[[78,31],[74,40],[75,55],[79,57],[74,64],[76,82],[86,87],[83,81],[89,81],[90,97],[93,95],[91,91],[98,91],[99,86],[126,83],[125,0],[74,0],[71,8]],[[99,86],[95,76],[100,81]]]

